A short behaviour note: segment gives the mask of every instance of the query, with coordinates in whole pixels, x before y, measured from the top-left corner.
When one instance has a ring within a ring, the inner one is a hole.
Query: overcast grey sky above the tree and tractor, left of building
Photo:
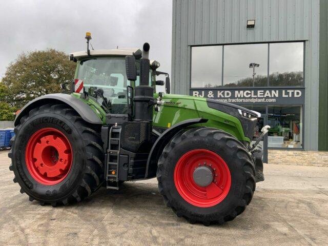
[[[1,0],[0,77],[18,54],[53,48],[141,48],[171,74],[172,1],[168,0]]]

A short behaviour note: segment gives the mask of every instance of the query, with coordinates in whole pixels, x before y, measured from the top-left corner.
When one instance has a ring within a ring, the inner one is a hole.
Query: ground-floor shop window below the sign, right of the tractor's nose
[[[269,148],[302,148],[302,107],[269,106]]]

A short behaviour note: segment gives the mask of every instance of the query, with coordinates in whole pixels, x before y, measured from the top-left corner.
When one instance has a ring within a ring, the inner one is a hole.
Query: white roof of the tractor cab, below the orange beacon
[[[90,50],[91,56],[126,56],[126,55],[133,55],[138,48],[124,48],[124,49],[114,49],[114,50]],[[81,58],[88,57],[87,51],[77,51],[70,53],[70,58],[74,57],[75,59],[79,60]]]

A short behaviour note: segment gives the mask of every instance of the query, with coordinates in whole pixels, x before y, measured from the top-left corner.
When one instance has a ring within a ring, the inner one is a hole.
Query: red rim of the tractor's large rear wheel
[[[29,139],[26,166],[31,176],[44,185],[63,181],[72,167],[72,147],[67,137],[55,128],[43,128]]]

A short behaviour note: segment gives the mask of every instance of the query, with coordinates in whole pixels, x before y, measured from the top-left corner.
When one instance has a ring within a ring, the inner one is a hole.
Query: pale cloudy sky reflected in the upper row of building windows
[[[259,64],[256,75],[268,74],[268,44],[225,45],[223,52],[223,84],[252,77],[250,63]],[[298,72],[303,70],[303,43],[270,44],[270,71]],[[192,86],[221,85],[222,46],[192,48]]]

